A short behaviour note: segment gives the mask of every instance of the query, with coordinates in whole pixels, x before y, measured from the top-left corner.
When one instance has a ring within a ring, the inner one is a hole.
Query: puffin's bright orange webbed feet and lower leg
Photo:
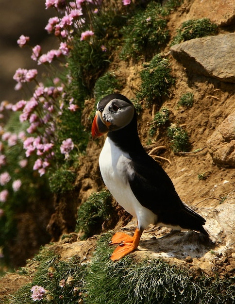
[[[119,244],[111,255],[111,260],[120,260],[123,256],[127,255],[128,253],[132,253],[135,249],[137,249],[141,235],[142,231],[139,229],[135,230],[134,236],[129,236],[123,232],[117,232],[112,237],[110,242],[110,244]]]

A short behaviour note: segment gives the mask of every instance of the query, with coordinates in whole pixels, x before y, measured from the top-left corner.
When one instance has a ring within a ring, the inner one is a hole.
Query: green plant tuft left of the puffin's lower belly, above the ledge
[[[111,219],[111,220],[110,220]],[[112,195],[108,191],[101,191],[90,195],[78,209],[76,232],[84,232],[83,239],[99,233],[103,227],[111,227],[116,220]]]

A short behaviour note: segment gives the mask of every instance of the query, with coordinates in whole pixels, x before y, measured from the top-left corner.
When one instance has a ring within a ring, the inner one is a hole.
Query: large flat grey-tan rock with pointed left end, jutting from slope
[[[235,83],[235,33],[207,36],[175,44],[172,56],[197,74]]]

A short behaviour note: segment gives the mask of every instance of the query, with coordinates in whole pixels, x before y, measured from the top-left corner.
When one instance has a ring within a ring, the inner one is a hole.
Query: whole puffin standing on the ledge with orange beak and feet
[[[134,235],[114,234],[117,261],[137,249],[150,224],[174,230],[194,230],[208,237],[205,220],[183,203],[164,169],[145,151],[137,130],[133,103],[124,95],[110,94],[97,104],[91,134],[95,140],[107,133],[99,157],[105,186],[128,213],[137,219]]]

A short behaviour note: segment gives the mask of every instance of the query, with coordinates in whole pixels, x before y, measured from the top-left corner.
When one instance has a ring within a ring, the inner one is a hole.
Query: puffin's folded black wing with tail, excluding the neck
[[[158,216],[158,222],[207,235],[202,227],[205,220],[182,203],[167,173],[151,156],[133,159],[131,166],[128,177],[131,189],[139,203]]]

